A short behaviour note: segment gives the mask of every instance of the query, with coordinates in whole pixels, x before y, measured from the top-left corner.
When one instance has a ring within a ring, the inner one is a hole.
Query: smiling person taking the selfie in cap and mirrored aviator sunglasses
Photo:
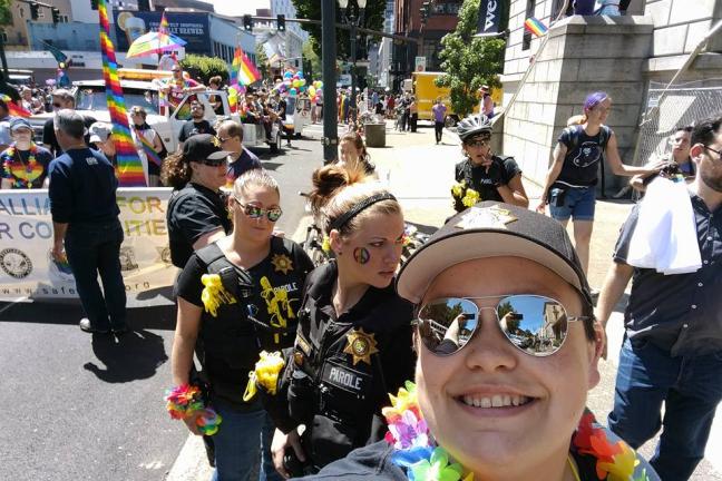
[[[397,289],[417,306],[416,384],[383,410],[384,441],[305,479],[658,480],[585,410],[603,332],[560,224],[478,204],[414,253]]]

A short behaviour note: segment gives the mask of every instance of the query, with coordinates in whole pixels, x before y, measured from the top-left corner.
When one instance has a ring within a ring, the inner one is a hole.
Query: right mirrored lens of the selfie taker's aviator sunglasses
[[[497,305],[497,316],[511,344],[535,356],[557,352],[567,334],[566,311],[549,297],[505,297]]]

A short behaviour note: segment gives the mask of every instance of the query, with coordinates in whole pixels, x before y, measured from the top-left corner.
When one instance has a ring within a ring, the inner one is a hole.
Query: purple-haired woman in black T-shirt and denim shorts
[[[662,164],[652,167],[622,164],[617,137],[604,125],[611,110],[612,98],[606,92],[587,96],[584,116],[578,124],[576,119],[569,119],[570,125],[559,136],[537,206],[537,212],[544,213],[549,204],[552,217],[564,226],[573,218],[574,244],[585,273],[589,265],[599,163],[604,161],[605,154],[612,171],[618,176],[651,174],[662,167]]]

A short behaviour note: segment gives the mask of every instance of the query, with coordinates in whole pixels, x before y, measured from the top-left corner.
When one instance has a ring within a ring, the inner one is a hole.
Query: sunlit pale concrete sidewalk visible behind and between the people
[[[344,129],[345,126],[339,126],[339,134]],[[304,136],[320,139],[322,126],[316,124],[306,127]],[[389,189],[400,200],[408,222],[431,233],[453,214],[449,190],[453,183],[453,166],[462,158],[460,143],[455,134],[445,130],[442,144],[436,145],[431,124],[420,122],[419,130],[411,134],[394,131],[392,121],[387,120],[387,146],[369,148],[369,154],[380,178],[389,184]],[[540,186],[525,179],[525,188],[530,198],[530,207],[535,207],[542,193]],[[589,283],[595,287],[601,287],[603,284],[612,262],[612,251],[619,226],[631,209],[632,204],[627,202],[597,202],[589,259]],[[304,222],[301,223],[293,236],[294,240],[303,239],[305,225]],[[624,304],[619,303],[609,320],[607,328],[609,359],[599,363],[602,380],[599,385],[589,392],[588,406],[603,423],[614,402],[614,380],[623,337],[623,310]],[[722,452],[722,410],[718,409],[718,414],[708,443],[706,458],[691,478],[694,481],[722,481],[722,457],[719,455]],[[645,458],[650,458],[655,444],[656,439],[642,446],[640,451]],[[201,449],[199,452],[197,448]],[[203,446],[197,442],[195,453],[192,449],[187,452],[184,449],[178,459],[183,460],[186,475],[169,475],[167,481],[207,480],[208,477],[203,473],[204,471],[198,472],[197,469],[197,462],[207,465],[202,450]],[[718,455],[713,457],[714,452]],[[197,462],[194,464],[193,461],[188,462],[188,459],[184,458],[195,459]],[[175,467],[173,472],[175,474]]]

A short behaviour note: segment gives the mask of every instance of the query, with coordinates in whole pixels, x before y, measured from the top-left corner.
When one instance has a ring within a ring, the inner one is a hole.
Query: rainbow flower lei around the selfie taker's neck
[[[398,394],[389,394],[391,406],[381,413],[389,431],[386,441],[396,451],[391,461],[406,470],[411,481],[474,481],[474,473],[450,458],[436,445],[419,409],[416,384],[407,381]],[[596,424],[594,414],[586,412],[572,439],[572,449],[596,459],[596,477],[599,481],[651,481],[646,469],[636,473],[640,458],[624,441],[613,443],[604,428]]]

